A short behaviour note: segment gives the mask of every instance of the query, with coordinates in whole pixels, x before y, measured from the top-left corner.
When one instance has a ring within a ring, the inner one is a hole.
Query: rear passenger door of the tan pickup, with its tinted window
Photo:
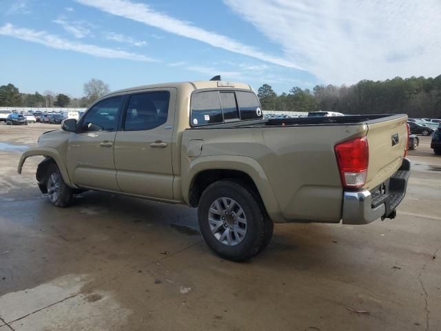
[[[131,94],[116,134],[116,180],[122,192],[173,199],[172,136],[176,89]]]

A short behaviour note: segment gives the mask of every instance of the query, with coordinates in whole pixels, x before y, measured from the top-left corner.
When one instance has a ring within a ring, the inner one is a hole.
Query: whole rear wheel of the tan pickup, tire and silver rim
[[[199,228],[216,254],[245,261],[258,254],[271,239],[272,222],[247,186],[223,180],[209,185],[198,206]]]

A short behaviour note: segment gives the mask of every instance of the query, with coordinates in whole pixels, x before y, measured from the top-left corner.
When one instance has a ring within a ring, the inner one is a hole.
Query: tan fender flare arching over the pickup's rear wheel
[[[204,170],[238,170],[247,174],[256,184],[269,217],[275,222],[285,222],[274,191],[260,164],[251,157],[240,155],[216,155],[198,157],[188,164],[186,175],[182,178],[183,199],[189,204],[189,191],[197,175]]]

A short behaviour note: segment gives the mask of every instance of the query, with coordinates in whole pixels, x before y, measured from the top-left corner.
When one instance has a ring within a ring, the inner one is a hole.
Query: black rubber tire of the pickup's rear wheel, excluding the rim
[[[245,237],[236,245],[227,245],[218,240],[209,225],[209,210],[216,199],[226,197],[240,205],[247,219]],[[256,195],[246,185],[233,180],[217,181],[203,192],[198,205],[199,228],[205,242],[216,254],[232,261],[245,261],[261,252],[269,243],[272,221]]]

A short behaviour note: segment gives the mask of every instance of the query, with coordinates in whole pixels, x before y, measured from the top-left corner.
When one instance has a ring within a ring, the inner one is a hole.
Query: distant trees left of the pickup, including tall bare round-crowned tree
[[[110,92],[109,86],[100,79],[91,79],[83,86],[84,97],[72,98],[67,94],[45,91],[21,93],[12,83],[0,86],[0,107],[88,107],[96,99]]]

